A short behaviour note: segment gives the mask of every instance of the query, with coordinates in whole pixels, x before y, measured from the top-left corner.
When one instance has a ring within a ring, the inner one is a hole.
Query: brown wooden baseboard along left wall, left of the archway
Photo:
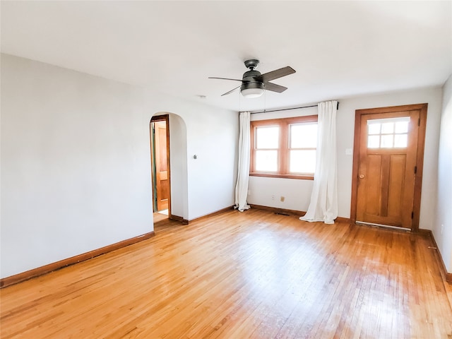
[[[44,275],[46,273],[50,273],[54,270],[59,270],[60,268],[64,268],[66,266],[71,266],[74,263],[80,263],[81,261],[88,260],[90,258],[94,258],[95,256],[100,256],[102,254],[106,254],[111,251],[115,251],[117,249],[121,249],[122,247],[129,246],[131,244],[135,244],[137,242],[141,242],[145,239],[149,239],[155,235],[154,231],[145,233],[142,235],[138,235],[138,237],[133,237],[130,239],[123,240],[121,242],[117,242],[115,244],[107,245],[101,247],[100,249],[95,249],[93,251],[85,252],[83,254],[78,254],[78,256],[72,256],[71,258],[66,258],[55,263],[49,263],[47,265],[33,268],[32,270],[27,270],[23,273],[18,273],[15,275],[11,275],[6,278],[0,279],[0,288],[4,288],[7,286],[15,285],[17,283],[21,283],[25,280],[29,280],[31,278],[39,277],[40,275]]]

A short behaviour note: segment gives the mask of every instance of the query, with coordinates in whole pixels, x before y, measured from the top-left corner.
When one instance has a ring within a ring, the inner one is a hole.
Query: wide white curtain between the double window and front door
[[[300,220],[334,224],[338,217],[338,180],[336,160],[336,112],[338,102],[319,103],[317,161],[314,186],[306,215]]]

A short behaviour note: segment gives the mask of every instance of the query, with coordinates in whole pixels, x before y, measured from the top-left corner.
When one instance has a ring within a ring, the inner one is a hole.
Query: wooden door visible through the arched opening
[[[153,141],[153,186],[154,211],[167,210],[169,207],[169,150],[167,119],[151,120],[151,140]]]

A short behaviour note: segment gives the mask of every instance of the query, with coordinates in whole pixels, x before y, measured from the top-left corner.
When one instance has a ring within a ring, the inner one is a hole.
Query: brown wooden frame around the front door
[[[371,109],[355,110],[355,138],[353,145],[353,168],[352,168],[352,200],[350,204],[350,220],[356,222],[357,214],[357,194],[358,194],[358,171],[359,171],[359,145],[361,136],[361,118],[367,114],[384,114],[393,112],[404,112],[419,110],[420,118],[417,121],[419,126],[417,134],[417,153],[416,153],[416,172],[415,172],[415,191],[412,206],[411,232],[419,230],[420,207],[421,207],[421,189],[422,189],[422,167],[424,165],[424,143],[425,128],[427,125],[427,106],[428,104],[402,105],[391,107],[378,107]]]

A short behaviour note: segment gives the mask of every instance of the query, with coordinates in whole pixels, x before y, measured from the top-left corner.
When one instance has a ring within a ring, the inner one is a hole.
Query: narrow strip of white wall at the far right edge
[[[443,87],[438,156],[438,196],[433,234],[449,273],[452,273],[452,75]],[[441,227],[442,225],[442,227]]]

